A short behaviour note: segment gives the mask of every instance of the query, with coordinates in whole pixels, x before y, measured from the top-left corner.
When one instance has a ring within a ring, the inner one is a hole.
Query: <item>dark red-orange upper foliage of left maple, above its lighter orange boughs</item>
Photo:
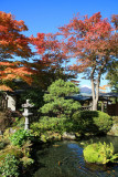
[[[14,55],[30,58],[32,52],[29,38],[21,32],[28,31],[24,21],[15,20],[11,13],[0,11],[0,59],[12,59]]]

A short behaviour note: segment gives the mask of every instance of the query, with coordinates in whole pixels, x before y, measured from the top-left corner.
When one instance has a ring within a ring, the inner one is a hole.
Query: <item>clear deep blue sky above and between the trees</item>
[[[11,12],[17,20],[23,20],[29,28],[25,35],[35,37],[37,32],[56,32],[77,12],[90,17],[100,11],[104,18],[118,14],[118,0],[1,0],[0,11]],[[103,80],[101,85],[106,83]],[[88,81],[81,82],[81,85],[89,84]]]

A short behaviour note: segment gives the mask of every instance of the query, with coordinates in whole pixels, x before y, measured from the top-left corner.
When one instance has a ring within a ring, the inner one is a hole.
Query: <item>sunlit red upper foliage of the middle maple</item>
[[[36,53],[40,54],[40,59],[47,63],[63,62],[66,60],[66,55],[62,51],[61,42],[55,34],[52,33],[37,33],[37,37],[30,38],[31,43],[35,46]]]

